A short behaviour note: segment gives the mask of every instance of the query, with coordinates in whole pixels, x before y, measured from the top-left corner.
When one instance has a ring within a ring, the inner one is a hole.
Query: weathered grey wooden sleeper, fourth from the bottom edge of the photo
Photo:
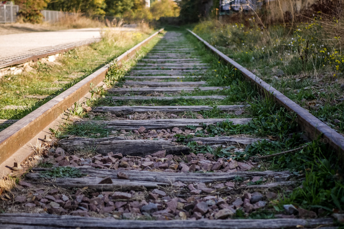
[[[146,129],[166,129],[166,128],[183,128],[187,125],[193,125],[196,127],[203,127],[203,123],[211,125],[217,122],[223,122],[228,120],[233,124],[246,124],[251,121],[251,118],[205,118],[205,119],[188,119],[188,118],[176,118],[176,119],[157,119],[157,120],[112,120],[112,121],[89,121],[99,125],[104,125],[104,128],[109,129],[138,129],[141,126]],[[86,122],[76,122],[75,124],[84,124]]]

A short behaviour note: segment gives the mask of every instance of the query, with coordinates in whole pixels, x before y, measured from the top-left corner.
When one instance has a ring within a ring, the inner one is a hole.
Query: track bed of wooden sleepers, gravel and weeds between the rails
[[[2,195],[12,204],[0,226],[337,228],[320,212],[273,207],[304,176],[245,158],[249,144],[274,139],[229,130],[251,123],[250,105],[207,85],[209,68],[184,33],[167,32],[102,106],[54,131],[39,166]]]

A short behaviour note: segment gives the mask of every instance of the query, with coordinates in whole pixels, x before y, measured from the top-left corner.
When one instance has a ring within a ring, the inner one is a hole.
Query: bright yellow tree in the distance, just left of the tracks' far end
[[[150,10],[155,20],[161,17],[178,17],[180,12],[177,3],[172,0],[154,1]]]

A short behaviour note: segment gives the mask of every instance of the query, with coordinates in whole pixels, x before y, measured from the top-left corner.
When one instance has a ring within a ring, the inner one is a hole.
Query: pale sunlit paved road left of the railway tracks
[[[0,61],[100,38],[101,28],[0,35]]]

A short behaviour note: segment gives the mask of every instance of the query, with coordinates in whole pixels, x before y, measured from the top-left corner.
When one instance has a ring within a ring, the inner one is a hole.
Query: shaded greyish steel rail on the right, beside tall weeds
[[[293,102],[287,96],[283,95],[277,89],[271,87],[270,84],[266,83],[252,72],[239,65],[234,60],[221,53],[215,47],[204,41],[200,36],[188,30],[191,34],[197,37],[206,47],[211,49],[215,54],[225,60],[227,63],[233,65],[252,83],[254,83],[259,90],[261,90],[266,96],[272,96],[272,98],[281,106],[285,107],[288,111],[297,113],[297,122],[301,128],[306,132],[306,136],[311,139],[316,139],[318,136],[322,138],[324,143],[330,144],[337,152],[341,160],[344,160],[344,137],[338,134],[334,129],[321,122],[318,118],[313,116],[311,113],[306,111],[304,108]]]

